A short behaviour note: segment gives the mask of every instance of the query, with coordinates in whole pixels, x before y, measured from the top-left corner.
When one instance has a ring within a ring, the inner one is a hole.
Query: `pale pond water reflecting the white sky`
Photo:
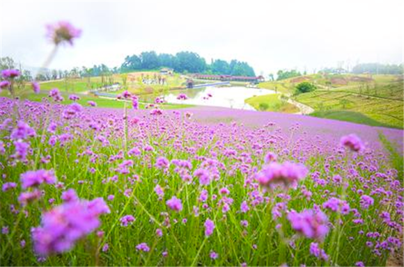
[[[180,93],[187,95],[187,100],[178,100]],[[168,103],[194,104],[199,106],[223,106],[226,108],[239,108],[254,110],[252,106],[244,103],[244,100],[256,95],[269,95],[274,91],[259,88],[247,88],[240,86],[215,87],[180,90],[178,92],[169,92],[164,96]],[[212,97],[208,97],[208,94]]]

